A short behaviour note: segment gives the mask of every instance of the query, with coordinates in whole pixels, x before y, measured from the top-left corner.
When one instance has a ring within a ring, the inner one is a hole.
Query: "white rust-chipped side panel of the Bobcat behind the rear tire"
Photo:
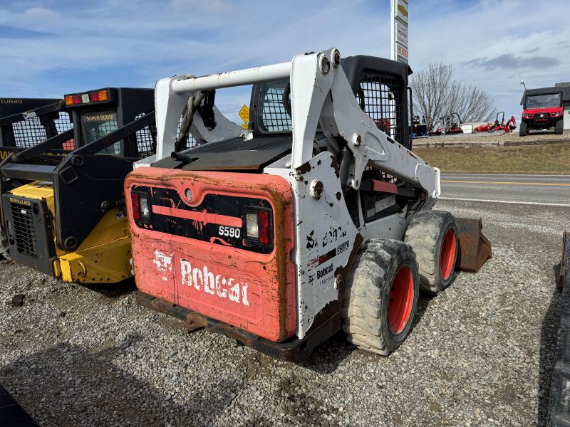
[[[339,166],[331,152],[317,154],[294,172],[279,168],[266,168],[264,172],[289,181],[294,195],[298,316],[295,334],[304,338],[318,325],[316,320],[331,315],[324,311],[326,307],[339,301],[338,272],[348,265],[358,229],[348,211]],[[316,183],[322,185],[318,195],[311,191],[311,184]],[[388,227],[379,233],[387,231]],[[375,235],[380,236],[385,234]]]

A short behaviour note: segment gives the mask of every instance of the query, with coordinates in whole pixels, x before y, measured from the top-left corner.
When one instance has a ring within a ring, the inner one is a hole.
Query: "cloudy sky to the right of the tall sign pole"
[[[427,2],[432,6],[435,4]],[[428,7],[425,4],[424,7]],[[430,19],[410,13],[410,58],[413,68],[432,60],[454,63],[457,77],[482,86],[494,96],[498,110],[519,119],[524,88],[570,80],[567,44],[568,1],[550,1],[547,9],[532,1],[481,1],[467,9],[443,11]],[[529,11],[532,10],[532,13]]]

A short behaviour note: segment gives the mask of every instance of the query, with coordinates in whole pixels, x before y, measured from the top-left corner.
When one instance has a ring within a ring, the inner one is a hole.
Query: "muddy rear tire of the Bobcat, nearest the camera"
[[[413,295],[405,325],[394,334],[388,322],[388,302],[393,281],[403,267],[410,269]],[[344,291],[343,331],[348,342],[382,356],[397,349],[413,328],[419,284],[418,263],[410,245],[375,239],[361,246]]]

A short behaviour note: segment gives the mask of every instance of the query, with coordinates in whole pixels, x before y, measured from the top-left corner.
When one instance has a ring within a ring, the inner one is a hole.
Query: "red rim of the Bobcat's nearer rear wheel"
[[[405,265],[398,270],[388,300],[388,325],[393,334],[400,334],[410,319],[414,300],[412,270]]]

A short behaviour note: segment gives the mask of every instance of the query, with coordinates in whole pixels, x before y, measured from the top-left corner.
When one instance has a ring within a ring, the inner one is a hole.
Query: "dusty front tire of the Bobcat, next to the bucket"
[[[447,231],[453,230],[455,251],[451,270],[442,278],[440,260],[443,241]],[[455,218],[446,211],[425,211],[415,214],[405,232],[405,243],[412,246],[420,268],[420,290],[437,295],[452,281],[457,262],[457,226]]]

